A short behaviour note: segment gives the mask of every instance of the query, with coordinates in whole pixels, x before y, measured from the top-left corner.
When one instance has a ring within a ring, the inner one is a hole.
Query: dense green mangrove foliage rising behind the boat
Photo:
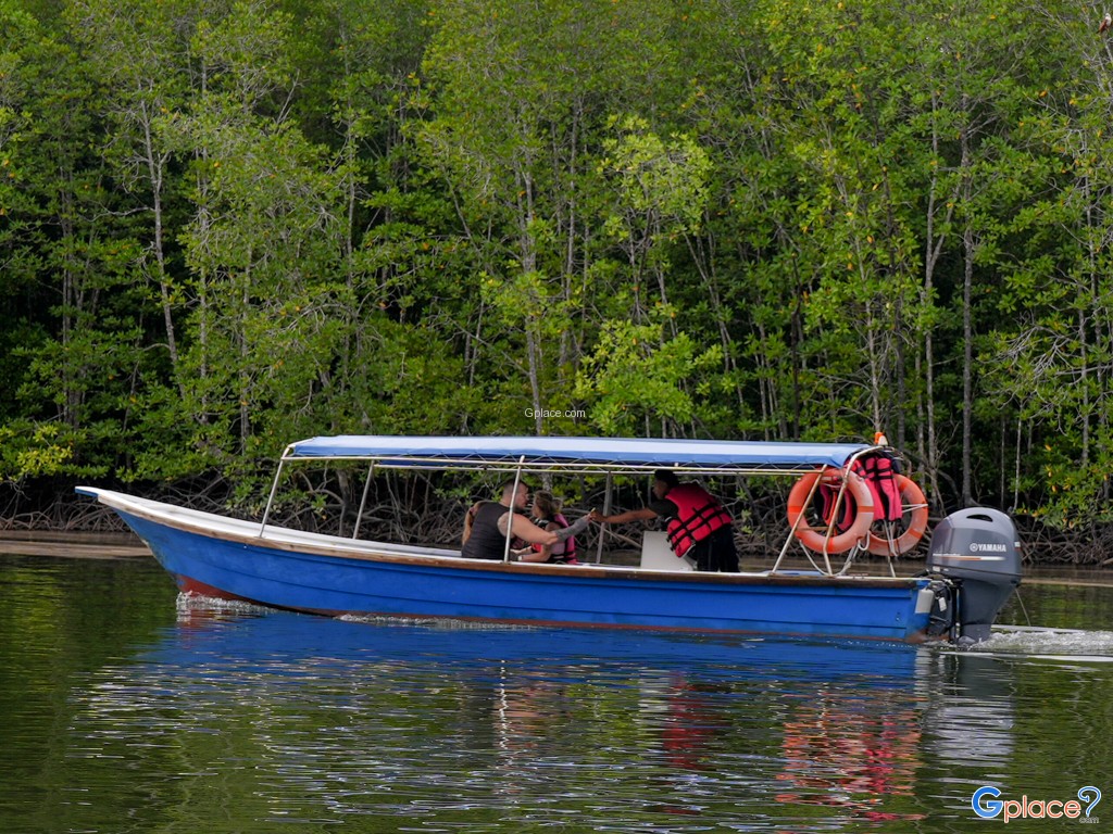
[[[6,478],[250,502],[333,431],[883,428],[972,498],[1106,512],[1113,59],[1078,7],[28,8]]]

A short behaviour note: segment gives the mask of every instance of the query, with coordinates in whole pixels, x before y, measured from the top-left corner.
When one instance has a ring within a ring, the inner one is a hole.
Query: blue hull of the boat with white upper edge
[[[233,522],[107,490],[184,592],[327,615],[925,638],[927,578],[503,564]]]

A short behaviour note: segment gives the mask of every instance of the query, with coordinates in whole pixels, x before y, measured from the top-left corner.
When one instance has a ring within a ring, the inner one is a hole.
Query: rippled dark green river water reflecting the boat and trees
[[[1023,602],[1082,631],[958,654],[383,625],[0,556],[0,832],[925,834],[1001,825],[982,786],[1094,786],[1089,825],[1007,831],[1111,831],[1113,588]]]

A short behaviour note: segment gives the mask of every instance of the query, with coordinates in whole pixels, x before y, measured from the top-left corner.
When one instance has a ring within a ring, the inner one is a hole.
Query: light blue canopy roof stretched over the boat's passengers
[[[865,444],[667,440],[637,437],[406,437],[342,435],[290,444],[284,459],[351,458],[391,466],[631,471],[668,467],[762,471],[843,466]]]

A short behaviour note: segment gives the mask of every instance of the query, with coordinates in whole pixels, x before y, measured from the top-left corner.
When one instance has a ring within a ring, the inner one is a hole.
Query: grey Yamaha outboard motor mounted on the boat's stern
[[[952,513],[932,534],[927,570],[958,587],[957,642],[988,639],[997,612],[1021,584],[1021,543],[1013,519],[987,507]]]

